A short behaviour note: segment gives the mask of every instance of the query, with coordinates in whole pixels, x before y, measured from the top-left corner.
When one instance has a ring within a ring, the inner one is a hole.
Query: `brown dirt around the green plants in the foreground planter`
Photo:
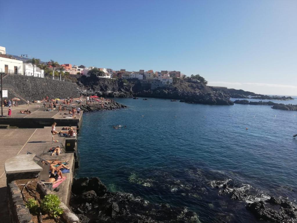
[[[27,184],[29,181],[31,181],[29,184]],[[39,181],[39,179],[24,179],[24,180],[17,180],[15,181],[15,183],[18,185],[18,188],[22,191],[23,187],[25,184],[27,184],[27,186],[29,187],[29,189],[32,189],[36,195],[36,197],[38,199],[41,200],[40,198],[40,191],[37,188],[37,182]],[[26,200],[33,198],[35,199],[35,197],[31,196],[29,194],[29,192],[24,188],[23,189],[23,194],[24,197],[26,198]],[[38,203],[39,204],[39,203]],[[39,215],[36,214],[32,214],[32,221],[34,223],[39,223]],[[61,217],[59,218],[61,221],[65,222],[64,219]],[[42,213],[42,223],[56,223],[56,220],[53,219],[53,217],[49,216],[49,214],[47,213]]]

